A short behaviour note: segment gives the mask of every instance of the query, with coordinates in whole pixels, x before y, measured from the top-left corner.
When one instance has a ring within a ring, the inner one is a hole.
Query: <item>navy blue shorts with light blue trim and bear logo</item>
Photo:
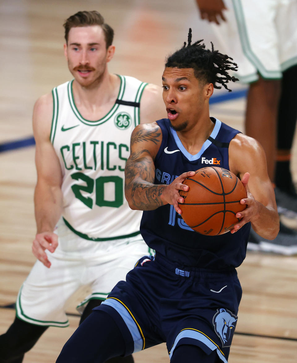
[[[182,270],[163,256],[145,256],[94,310],[117,322],[125,355],[166,342],[170,358],[179,345],[193,344],[227,362],[241,293],[235,269]]]

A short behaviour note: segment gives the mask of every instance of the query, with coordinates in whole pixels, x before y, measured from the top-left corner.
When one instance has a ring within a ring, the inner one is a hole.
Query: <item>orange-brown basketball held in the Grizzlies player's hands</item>
[[[231,171],[209,166],[196,170],[183,184],[188,191],[179,191],[182,218],[194,231],[217,236],[230,231],[240,221],[235,215],[246,208],[240,200],[247,197],[240,179]]]

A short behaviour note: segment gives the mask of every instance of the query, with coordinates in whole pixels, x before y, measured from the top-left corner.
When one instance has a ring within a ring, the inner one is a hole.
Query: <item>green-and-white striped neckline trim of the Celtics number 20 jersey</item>
[[[118,93],[118,97],[117,99],[122,99],[123,94],[125,92],[125,87],[126,87],[126,79],[125,77],[117,74],[117,76],[119,77],[121,84],[119,87],[119,93]],[[88,126],[98,126],[101,125],[103,122],[106,122],[108,119],[111,118],[111,116],[117,111],[119,104],[115,103],[113,105],[113,107],[111,108],[111,110],[101,119],[97,120],[97,121],[89,121],[87,119],[85,119],[84,117],[82,117],[82,115],[80,114],[80,112],[78,111],[75,102],[74,102],[74,97],[73,97],[73,89],[72,89],[72,85],[73,85],[73,79],[72,81],[68,82],[68,98],[69,98],[69,103],[70,106],[72,108],[73,113],[76,115],[76,117],[85,125]]]

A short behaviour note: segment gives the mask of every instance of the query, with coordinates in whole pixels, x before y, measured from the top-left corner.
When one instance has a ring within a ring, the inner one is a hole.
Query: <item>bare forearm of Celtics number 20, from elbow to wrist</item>
[[[62,200],[60,187],[37,183],[34,192],[37,233],[54,231],[62,213]]]

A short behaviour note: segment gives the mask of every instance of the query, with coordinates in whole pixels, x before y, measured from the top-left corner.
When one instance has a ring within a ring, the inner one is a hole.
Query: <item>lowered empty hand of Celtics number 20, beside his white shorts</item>
[[[58,236],[52,232],[37,233],[32,244],[32,252],[45,267],[50,268],[51,263],[46,256],[45,250],[54,252],[58,246]]]

